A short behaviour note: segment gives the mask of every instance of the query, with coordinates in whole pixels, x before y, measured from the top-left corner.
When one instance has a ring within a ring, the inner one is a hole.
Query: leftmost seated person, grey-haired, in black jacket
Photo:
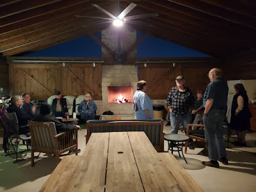
[[[31,108],[31,113],[26,113],[24,109],[20,108],[20,106],[23,104],[20,95],[12,96],[10,102],[11,105],[6,109],[6,111],[8,113],[16,113],[20,126],[19,133],[27,134],[28,132],[30,132],[28,127],[28,120],[33,120],[36,107],[33,106]]]

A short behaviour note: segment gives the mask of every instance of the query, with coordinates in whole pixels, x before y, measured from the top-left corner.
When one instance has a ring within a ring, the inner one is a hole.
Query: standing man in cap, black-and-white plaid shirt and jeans
[[[187,125],[191,124],[191,112],[189,108],[195,104],[193,94],[189,88],[184,86],[184,77],[176,77],[175,82],[177,86],[171,88],[166,100],[167,107],[170,111],[171,134],[177,134],[180,123],[186,132]],[[188,146],[191,149],[195,149],[192,141],[189,141]]]

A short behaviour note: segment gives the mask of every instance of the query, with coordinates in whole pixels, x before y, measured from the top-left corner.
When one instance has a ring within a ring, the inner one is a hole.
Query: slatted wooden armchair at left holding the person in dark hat
[[[28,122],[31,132],[31,166],[34,166],[34,153],[44,152],[56,156],[56,164],[60,162],[60,154],[76,148],[77,129],[57,134],[54,122]]]

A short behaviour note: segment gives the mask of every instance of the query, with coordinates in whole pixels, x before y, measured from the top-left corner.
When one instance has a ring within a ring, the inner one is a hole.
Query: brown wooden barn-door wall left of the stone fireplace
[[[92,63],[13,64],[10,70],[10,95],[28,92],[33,100],[47,100],[60,90],[63,95],[84,95],[93,92],[93,99],[102,99],[101,64]]]

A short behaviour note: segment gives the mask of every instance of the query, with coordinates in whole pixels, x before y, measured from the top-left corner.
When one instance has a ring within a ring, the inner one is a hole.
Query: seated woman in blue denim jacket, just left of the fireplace
[[[84,121],[95,119],[97,105],[92,100],[90,93],[85,95],[84,100],[82,100],[81,104],[79,104],[77,110],[81,114],[81,118],[83,118]]]

